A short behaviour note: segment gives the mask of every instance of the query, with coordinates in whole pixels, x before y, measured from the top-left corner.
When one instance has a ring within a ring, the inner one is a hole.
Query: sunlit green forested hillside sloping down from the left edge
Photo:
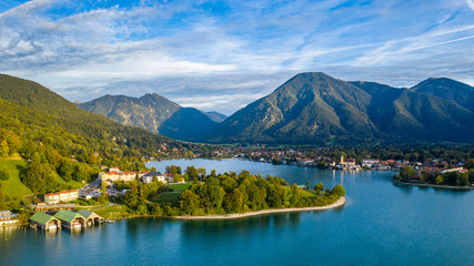
[[[77,188],[93,180],[101,166],[140,171],[149,158],[205,156],[211,149],[123,126],[82,111],[38,83],[0,75],[0,161],[11,167],[16,163],[9,161],[27,162],[19,176],[0,166],[0,186],[20,177],[17,187],[24,185],[34,194]],[[17,187],[0,187],[0,205],[13,201]]]

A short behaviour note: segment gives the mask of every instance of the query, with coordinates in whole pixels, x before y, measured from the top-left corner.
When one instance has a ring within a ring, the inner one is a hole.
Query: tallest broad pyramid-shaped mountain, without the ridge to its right
[[[289,80],[219,124],[215,142],[329,143],[379,134],[369,120],[370,94],[324,73]]]

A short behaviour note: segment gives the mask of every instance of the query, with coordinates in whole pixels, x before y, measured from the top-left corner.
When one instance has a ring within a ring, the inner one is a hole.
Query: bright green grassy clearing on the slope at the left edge
[[[32,194],[20,181],[20,172],[27,167],[27,162],[20,160],[0,161],[0,167],[6,167],[10,174],[7,181],[0,181],[1,187],[7,196],[20,197]]]

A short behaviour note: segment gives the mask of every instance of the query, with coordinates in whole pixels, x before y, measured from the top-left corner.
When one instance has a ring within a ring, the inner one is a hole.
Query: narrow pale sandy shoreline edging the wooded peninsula
[[[274,213],[292,213],[292,212],[307,212],[307,211],[325,211],[341,207],[345,204],[345,197],[339,198],[335,203],[321,206],[321,207],[293,207],[293,208],[272,208],[272,209],[261,209],[256,212],[250,213],[241,213],[241,214],[225,214],[225,215],[204,215],[204,216],[172,216],[170,218],[175,219],[235,219],[235,218],[244,218],[264,214],[274,214]]]

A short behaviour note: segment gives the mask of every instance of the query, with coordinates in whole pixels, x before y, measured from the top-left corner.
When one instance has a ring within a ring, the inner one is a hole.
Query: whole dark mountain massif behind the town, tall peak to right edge
[[[458,96],[451,100],[450,93],[426,89],[440,88],[436,81],[453,83],[441,79],[415,89],[395,89],[345,82],[321,72],[301,73],[235,112],[205,137],[214,143],[322,145],[379,140],[474,142],[474,113],[463,108],[468,101],[458,104]]]

